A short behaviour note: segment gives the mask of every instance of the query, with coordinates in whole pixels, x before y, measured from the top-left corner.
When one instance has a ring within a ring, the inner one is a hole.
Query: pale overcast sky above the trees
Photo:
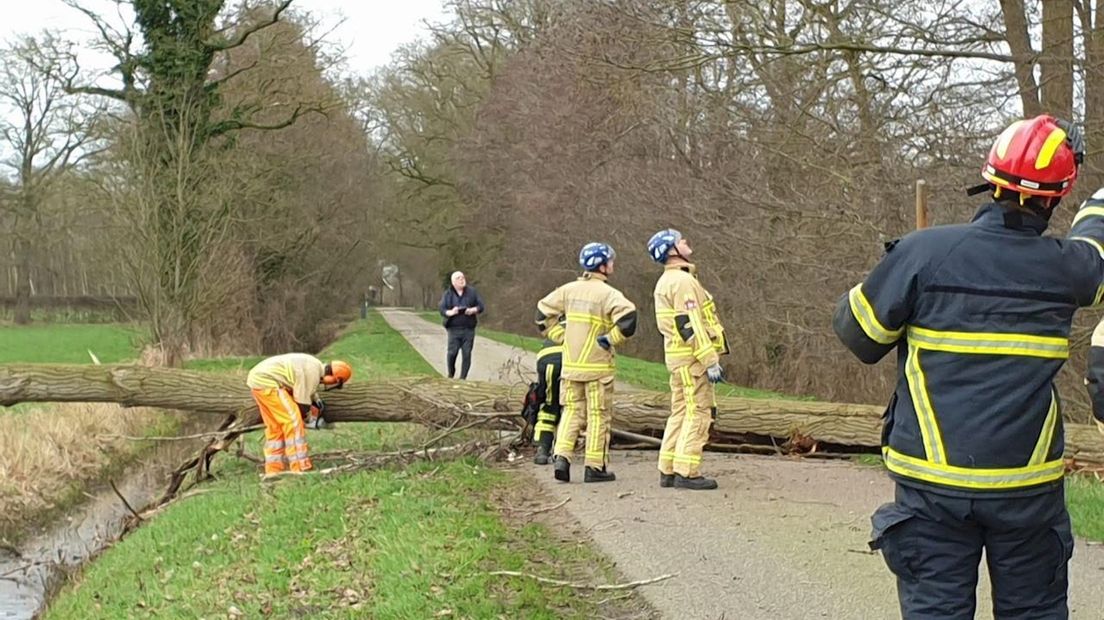
[[[351,72],[367,74],[372,68],[386,64],[391,53],[400,45],[422,36],[425,32],[423,20],[443,19],[442,1],[295,0],[291,7],[321,18],[327,30],[344,15],[344,22],[337,26],[328,40],[346,49]],[[62,0],[0,2],[4,4],[3,17],[0,18],[0,40],[17,34],[33,34],[46,28],[61,30],[66,39],[75,40],[88,39],[95,32],[85,15],[66,7]],[[114,14],[113,1],[85,0],[84,6],[110,10]]]

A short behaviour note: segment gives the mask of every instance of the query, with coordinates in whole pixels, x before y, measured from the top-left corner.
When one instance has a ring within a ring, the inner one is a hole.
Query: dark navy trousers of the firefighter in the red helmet
[[[896,485],[871,519],[871,548],[898,578],[904,620],[974,618],[985,549],[998,620],[1069,618],[1066,564],[1073,554],[1065,491],[967,499]]]

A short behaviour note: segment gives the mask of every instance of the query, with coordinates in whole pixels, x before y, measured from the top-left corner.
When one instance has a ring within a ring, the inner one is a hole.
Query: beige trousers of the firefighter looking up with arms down
[[[701,453],[709,441],[716,394],[704,373],[690,366],[671,372],[671,416],[659,447],[659,471],[686,478],[701,475]]]

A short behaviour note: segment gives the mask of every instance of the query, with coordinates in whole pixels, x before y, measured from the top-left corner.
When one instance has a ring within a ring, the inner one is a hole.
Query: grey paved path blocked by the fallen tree
[[[438,371],[445,333],[404,311],[381,310]],[[522,381],[534,355],[477,338],[470,378]],[[534,480],[566,510],[627,579],[678,577],[640,588],[670,619],[900,618],[896,590],[867,550],[870,514],[890,501],[881,470],[847,462],[707,453],[718,492],[660,489],[655,452],[615,451],[617,481],[562,484],[548,467]],[[582,479],[581,468],[572,472]],[[984,566],[984,565],[983,565]],[[1104,548],[1078,542],[1071,575],[1073,618],[1104,618]],[[978,618],[991,618],[988,584]]]

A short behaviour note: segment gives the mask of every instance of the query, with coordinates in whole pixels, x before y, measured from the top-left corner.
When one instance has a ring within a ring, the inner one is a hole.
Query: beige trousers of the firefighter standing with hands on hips
[[[586,428],[586,467],[604,469],[609,462],[609,423],[613,418],[614,377],[560,382],[563,413],[555,431],[555,456],[571,460],[575,440]]]

